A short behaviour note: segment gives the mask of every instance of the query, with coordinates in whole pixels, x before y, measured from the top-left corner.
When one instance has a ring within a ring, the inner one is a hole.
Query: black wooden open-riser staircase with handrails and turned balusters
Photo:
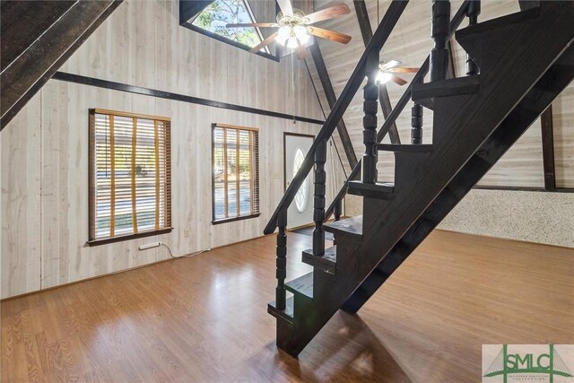
[[[477,1],[466,1],[452,19],[447,1],[433,2],[435,48],[377,132],[378,85],[373,68],[405,4],[394,1],[389,6],[265,228],[266,234],[279,228],[276,300],[268,305],[268,312],[277,318],[278,347],[293,356],[338,309],[361,309],[574,78],[574,2],[530,3],[522,12],[488,22],[477,22]],[[465,17],[470,25],[457,30]],[[446,41],[455,30],[468,55],[469,75],[446,79]],[[427,72],[431,81],[422,83]],[[366,151],[325,209],[324,143],[365,74]],[[411,100],[413,144],[378,144]],[[421,106],[434,112],[432,144],[421,144]],[[393,184],[377,182],[379,151],[395,153]],[[285,283],[286,208],[314,162],[316,228],[313,248],[302,254],[302,261],[313,265],[314,271]],[[361,180],[354,180],[360,171]],[[325,222],[347,192],[363,196],[363,216]],[[335,234],[336,246],[325,248],[324,231]],[[293,296],[285,299],[286,291]]]

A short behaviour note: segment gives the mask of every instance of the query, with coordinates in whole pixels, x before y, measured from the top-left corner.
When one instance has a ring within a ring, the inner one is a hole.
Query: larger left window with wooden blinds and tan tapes
[[[90,110],[90,242],[171,230],[170,119]]]

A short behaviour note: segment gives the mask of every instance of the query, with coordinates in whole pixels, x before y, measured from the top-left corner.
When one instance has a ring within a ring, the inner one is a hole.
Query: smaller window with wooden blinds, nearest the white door
[[[213,124],[213,223],[259,215],[258,135]]]

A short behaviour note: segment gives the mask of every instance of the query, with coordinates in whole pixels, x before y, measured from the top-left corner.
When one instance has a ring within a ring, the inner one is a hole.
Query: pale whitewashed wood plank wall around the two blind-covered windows
[[[295,67],[295,89],[291,85]],[[178,25],[178,2],[126,0],[60,69],[119,83],[322,119],[304,65],[276,63]],[[98,247],[88,239],[88,109],[167,116],[174,231]],[[259,128],[261,211],[213,226],[211,124]],[[262,235],[283,196],[283,132],[320,126],[50,80],[7,126],[2,144],[1,297],[70,283]],[[342,179],[327,159],[327,199]],[[336,158],[336,156],[335,156]],[[185,231],[190,232],[185,237]],[[238,254],[238,257],[241,257]],[[269,257],[274,257],[270,249]]]

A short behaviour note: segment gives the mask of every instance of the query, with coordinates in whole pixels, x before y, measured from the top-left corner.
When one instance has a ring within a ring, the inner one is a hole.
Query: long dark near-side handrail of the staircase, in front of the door
[[[352,72],[349,82],[345,85],[343,92],[341,92],[341,96],[336,100],[335,106],[331,109],[331,113],[329,113],[329,117],[326,119],[325,124],[309,148],[309,152],[307,153],[307,156],[305,156],[305,160],[303,160],[300,170],[292,179],[291,185],[287,187],[281,202],[279,202],[279,205],[277,205],[277,208],[269,219],[269,222],[267,222],[264,230],[265,234],[271,234],[275,231],[279,211],[291,205],[291,202],[297,194],[301,184],[305,178],[307,178],[309,171],[313,168],[315,152],[317,151],[318,144],[321,140],[326,140],[333,135],[336,125],[341,118],[343,118],[345,110],[349,107],[353,96],[359,90],[359,87],[365,78],[365,63],[367,62],[367,57],[369,57],[370,52],[380,51],[380,49],[383,48],[383,45],[385,45],[389,35],[395,29],[396,22],[398,22],[401,14],[403,14],[404,8],[407,4],[408,0],[393,0],[389,5],[387,13],[385,13],[380,24],[378,24],[378,28],[375,31],[373,38],[370,39],[369,45],[365,48],[359,63]]]

